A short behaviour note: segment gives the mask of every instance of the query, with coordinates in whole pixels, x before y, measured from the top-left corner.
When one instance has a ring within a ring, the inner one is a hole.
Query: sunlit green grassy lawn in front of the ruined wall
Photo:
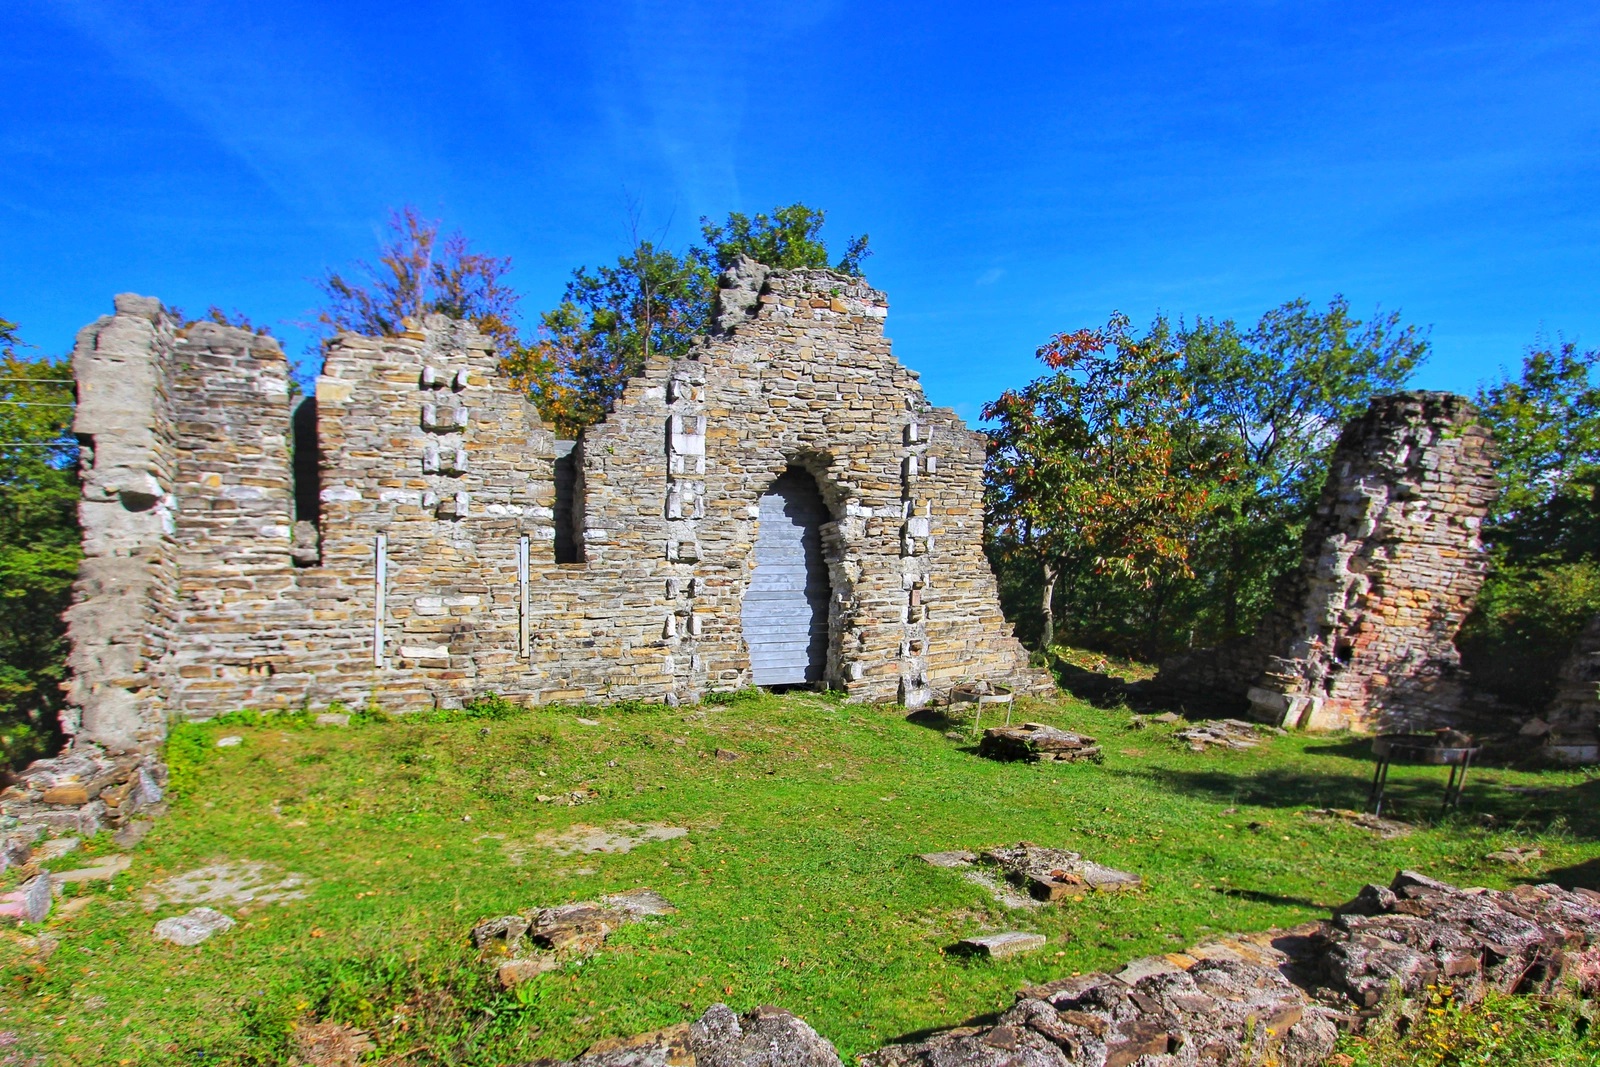
[[[1365,742],[1290,736],[1197,755],[1173,744],[1174,726],[1130,729],[1125,710],[1069,701],[1026,717],[1099,737],[1106,761],[997,765],[901,710],[824,696],[186,726],[171,814],[131,869],[46,923],[59,939],[48,958],[0,941],[0,1032],[53,1064],[288,1062],[290,1029],[317,1017],[370,1030],[373,1062],[501,1064],[723,1000],[789,1008],[848,1062],[1002,1008],[1026,982],[1323,917],[1400,867],[1502,888],[1562,870],[1592,885],[1600,865],[1600,779],[1582,773],[1474,771],[1462,813],[1437,822],[1443,771],[1397,766],[1390,813],[1418,830],[1379,840],[1301,814],[1362,806]],[[227,734],[242,744],[214,747]],[[536,800],[581,787],[598,797]],[[547,845],[619,822],[688,833],[627,853]],[[1146,889],[1008,910],[917,859],[1019,840],[1133,870]],[[1526,869],[1483,859],[1510,845],[1546,854]],[[107,851],[96,838],[51,867]],[[152,941],[155,920],[192,907],[147,910],[152,886],[238,861],[304,875],[304,896],[218,904],[238,926],[195,949]],[[637,886],[678,912],[515,992],[467,939],[486,917]],[[1000,963],[944,955],[990,929],[1050,944]]]

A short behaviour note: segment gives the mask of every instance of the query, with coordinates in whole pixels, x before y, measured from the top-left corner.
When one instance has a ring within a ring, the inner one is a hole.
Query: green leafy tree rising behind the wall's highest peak
[[[562,302],[539,317],[541,339],[528,358],[550,368],[541,411],[557,432],[576,437],[605,418],[651,355],[678,358],[710,330],[717,274],[741,254],[768,267],[827,267],[821,237],[826,213],[792,203],[770,216],[731,213],[725,222],[701,218],[704,246],[685,253],[659,248],[634,230],[632,248],[616,266],[578,267]],[[859,275],[870,254],[867,237],[851,237],[834,266]]]

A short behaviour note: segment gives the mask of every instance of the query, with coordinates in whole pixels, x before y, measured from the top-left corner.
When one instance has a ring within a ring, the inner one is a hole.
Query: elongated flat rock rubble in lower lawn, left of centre
[[[530,915],[501,915],[472,928],[485,958],[499,957],[494,974],[510,989],[536,974],[600,950],[611,931],[677,909],[654,889],[632,889],[598,901],[542,907]]]

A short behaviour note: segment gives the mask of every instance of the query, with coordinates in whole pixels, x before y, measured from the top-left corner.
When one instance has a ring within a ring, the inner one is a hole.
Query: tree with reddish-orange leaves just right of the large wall
[[[1125,315],[1058,334],[1038,350],[1050,373],[984,408],[992,537],[1042,569],[1046,648],[1062,576],[1155,589],[1190,574],[1194,523],[1232,458],[1195,446],[1171,341],[1165,320],[1141,338]]]

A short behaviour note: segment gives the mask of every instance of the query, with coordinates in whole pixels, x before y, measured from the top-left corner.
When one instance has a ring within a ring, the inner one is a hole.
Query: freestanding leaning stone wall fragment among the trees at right
[[[1278,726],[1454,725],[1453,641],[1488,569],[1494,494],[1490,432],[1464,397],[1378,397],[1339,435],[1301,568],[1261,630],[1163,664],[1152,691]]]

